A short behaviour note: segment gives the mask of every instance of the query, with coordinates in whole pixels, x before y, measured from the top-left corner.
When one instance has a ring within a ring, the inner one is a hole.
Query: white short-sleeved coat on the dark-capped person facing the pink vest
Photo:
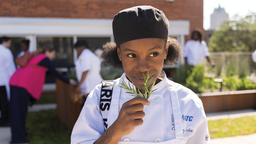
[[[100,75],[101,60],[89,49],[84,49],[75,62],[75,71],[79,82],[83,72],[87,70],[85,81],[81,85],[81,92],[84,94],[89,94],[103,80]]]

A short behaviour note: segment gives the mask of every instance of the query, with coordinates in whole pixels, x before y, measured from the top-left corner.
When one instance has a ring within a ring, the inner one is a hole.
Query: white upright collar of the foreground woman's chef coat
[[[161,91],[162,89],[165,89],[165,87],[166,87],[166,85],[167,85],[167,82],[166,82],[166,79],[167,79],[167,78],[166,78],[166,74],[165,74],[164,71],[161,71],[161,73],[159,74],[158,78],[159,78],[159,79],[162,79],[162,81],[160,81],[158,84],[156,84],[156,85],[153,87],[153,90],[155,90],[155,89],[157,89],[157,90],[153,91],[152,94],[154,94],[154,93],[156,93],[156,92],[158,92],[158,91]],[[123,80],[124,80],[125,83],[129,86],[129,82],[130,82],[130,81],[127,79],[125,73],[124,73],[124,76],[123,76]],[[122,81],[122,79],[121,79],[121,81]],[[130,86],[132,87],[132,82],[130,82]],[[135,85],[134,85],[134,86],[135,86]]]

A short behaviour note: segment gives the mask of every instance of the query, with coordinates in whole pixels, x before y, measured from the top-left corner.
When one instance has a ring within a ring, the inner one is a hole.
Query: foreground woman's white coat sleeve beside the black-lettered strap
[[[71,144],[93,144],[104,133],[104,123],[99,111],[101,85],[88,95],[85,105],[71,134]]]

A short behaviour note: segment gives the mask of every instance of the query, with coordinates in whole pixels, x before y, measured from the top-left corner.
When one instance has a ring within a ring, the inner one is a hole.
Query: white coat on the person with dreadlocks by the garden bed
[[[183,48],[183,57],[187,58],[187,64],[191,66],[203,64],[203,60],[208,56],[209,49],[204,41],[190,39]]]

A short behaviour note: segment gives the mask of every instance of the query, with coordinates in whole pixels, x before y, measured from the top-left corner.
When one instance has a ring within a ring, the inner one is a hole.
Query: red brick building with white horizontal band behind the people
[[[30,39],[31,50],[54,46],[59,59],[72,63],[77,57],[74,42],[86,39],[95,50],[114,41],[114,15],[139,5],[162,10],[170,23],[169,35],[182,46],[194,29],[204,37],[203,0],[0,0],[0,37],[12,37],[12,51],[18,51],[23,38]]]

